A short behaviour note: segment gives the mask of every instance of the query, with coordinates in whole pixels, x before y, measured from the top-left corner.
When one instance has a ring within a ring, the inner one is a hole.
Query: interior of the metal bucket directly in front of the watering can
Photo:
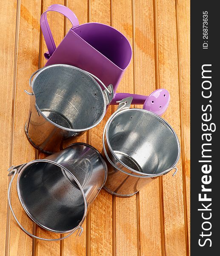
[[[99,84],[73,66],[48,66],[37,73],[32,87],[43,115],[64,128],[90,128],[106,111]]]

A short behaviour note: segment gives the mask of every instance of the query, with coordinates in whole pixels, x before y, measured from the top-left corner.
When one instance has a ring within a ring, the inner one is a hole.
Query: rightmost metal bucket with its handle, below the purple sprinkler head
[[[180,158],[180,143],[171,126],[155,113],[130,108],[131,100],[120,102],[103,131],[108,166],[104,188],[120,197],[136,194],[172,169],[175,175]]]

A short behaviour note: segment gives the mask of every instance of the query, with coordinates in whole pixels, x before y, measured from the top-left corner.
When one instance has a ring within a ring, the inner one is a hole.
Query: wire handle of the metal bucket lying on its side
[[[12,209],[12,206],[11,206],[11,186],[12,186],[12,182],[14,180],[14,177],[15,175],[17,174],[17,170],[20,169],[22,166],[24,166],[25,164],[21,165],[21,166],[17,166],[17,167],[14,167],[14,166],[11,166],[8,171],[9,171],[9,175],[11,176],[12,173],[13,173],[13,176],[11,177],[11,180],[9,182],[9,189],[8,189],[8,202],[9,202],[9,207],[11,209],[11,213],[15,219],[15,221],[17,222],[17,224],[19,225],[19,227],[29,236],[33,237],[33,238],[36,238],[36,239],[39,239],[39,240],[44,240],[44,241],[60,241],[60,240],[63,240],[63,239],[66,239],[68,238],[69,236],[71,236],[76,230],[78,230],[77,232],[77,235],[79,233],[79,236],[81,236],[82,232],[83,232],[83,227],[81,226],[78,226],[76,227],[73,231],[71,231],[71,233],[69,233],[68,235],[66,236],[63,236],[63,237],[60,237],[60,238],[57,238],[57,239],[47,239],[47,238],[43,238],[43,237],[39,237],[39,236],[34,236],[33,234],[31,234],[30,232],[28,232],[23,226],[22,224],[20,224],[20,222],[18,221],[13,209]],[[19,168],[18,168],[19,167]],[[18,168],[18,169],[17,169]]]

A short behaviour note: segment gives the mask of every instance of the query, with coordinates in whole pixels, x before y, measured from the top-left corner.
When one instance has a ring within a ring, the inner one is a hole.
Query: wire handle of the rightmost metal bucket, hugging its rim
[[[105,125],[105,127],[104,127],[104,130],[103,130],[103,150],[104,150],[104,152],[105,152],[106,158],[108,159],[109,163],[111,163],[111,165],[112,165],[114,168],[116,168],[117,170],[119,170],[119,171],[121,171],[121,172],[123,172],[123,173],[125,173],[125,174],[127,174],[127,172],[125,172],[125,171],[123,171],[122,169],[120,169],[118,166],[116,166],[116,165],[111,161],[111,159],[110,159],[110,157],[109,157],[109,155],[108,155],[108,152],[107,152],[107,150],[106,150],[106,146],[105,146],[105,135],[106,135],[106,130],[107,130],[107,128],[108,128],[109,123],[111,122],[111,120],[114,118],[114,116],[115,116],[119,111],[121,111],[121,110],[123,110],[123,109],[126,109],[126,108],[130,108],[132,99],[133,99],[133,97],[128,97],[128,98],[125,98],[125,99],[123,99],[123,100],[121,100],[121,101],[119,102],[117,111],[115,111],[115,112],[113,113],[113,115],[111,115],[111,117],[108,119],[108,121],[106,122],[106,125]],[[166,171],[166,173],[170,172],[172,169],[175,169],[174,174],[172,175],[172,176],[174,176],[174,175],[176,175],[177,170],[178,170],[176,166],[171,167],[169,170]],[[164,174],[166,174],[166,173],[164,173]],[[132,174],[132,173],[129,173],[129,175],[134,176],[134,177],[140,177],[139,175],[135,175],[135,174]],[[152,175],[152,174],[146,175],[146,177],[151,177],[151,176],[154,176],[154,175]]]

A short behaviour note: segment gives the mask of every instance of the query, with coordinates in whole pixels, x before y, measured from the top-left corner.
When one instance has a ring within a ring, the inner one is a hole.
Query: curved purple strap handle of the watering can
[[[76,15],[66,6],[60,4],[53,4],[40,17],[40,27],[43,32],[43,37],[46,42],[48,53],[44,54],[46,59],[49,59],[56,49],[56,44],[51,33],[49,23],[47,21],[47,12],[59,12],[69,19],[72,24],[72,28],[79,25],[79,21]]]

